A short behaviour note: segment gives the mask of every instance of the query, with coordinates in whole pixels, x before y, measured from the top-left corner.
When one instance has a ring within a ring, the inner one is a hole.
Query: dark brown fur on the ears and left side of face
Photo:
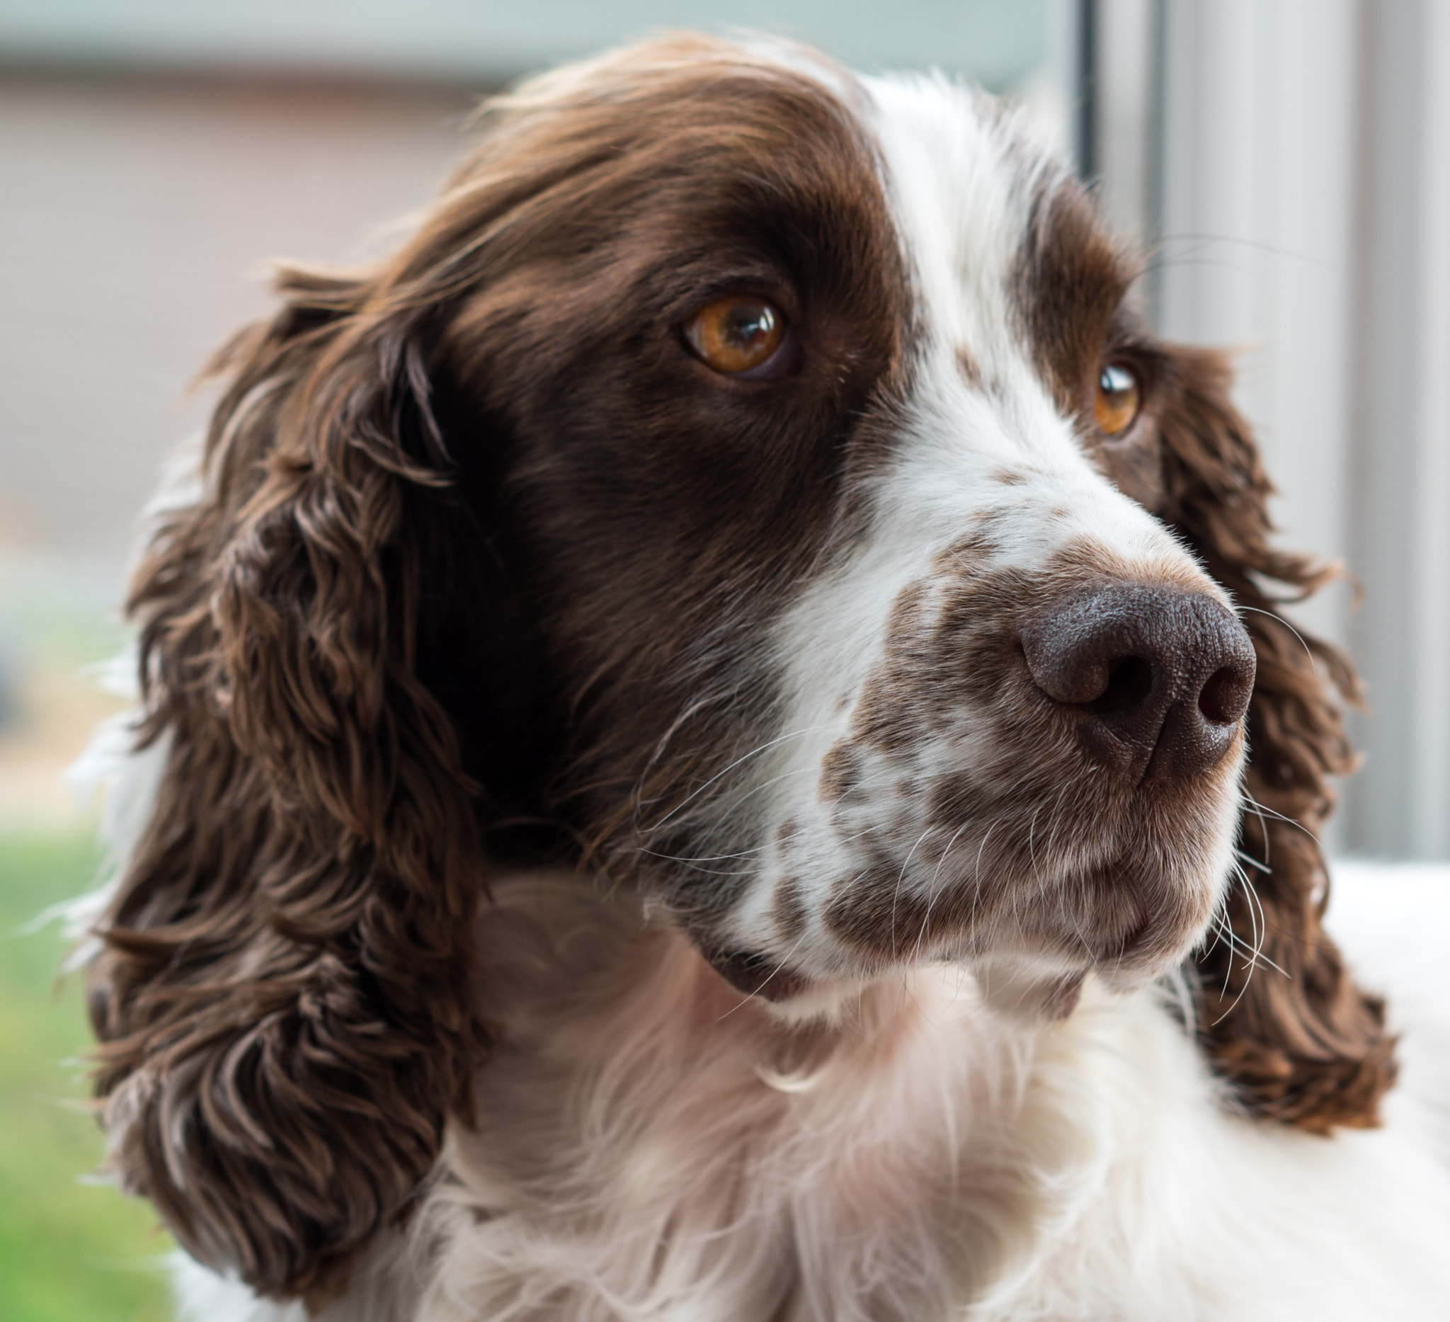
[[[1041,270],[1072,286],[1063,316],[1112,316],[1121,290]],[[742,283],[802,338],[789,388],[706,380],[670,330]],[[493,855],[650,880],[689,923],[729,902],[668,855],[731,844],[702,839],[696,791],[767,725],[770,620],[858,528],[911,300],[850,116],[687,39],[505,101],[397,254],[280,290],[216,362],[203,494],[132,591],[142,738],[171,752],[90,990],[126,1186],[200,1260],[316,1302],[468,1113]],[[1105,333],[1054,329],[1051,371],[1076,381]],[[1251,574],[1311,584],[1266,546],[1221,368],[1154,361],[1160,513],[1247,604],[1267,606]],[[1338,718],[1292,636],[1250,628],[1250,786],[1312,828]],[[742,828],[716,806],[710,829]],[[1264,1113],[1366,1123],[1391,1078],[1378,1006],[1318,926],[1317,849],[1246,816],[1264,844],[1266,954],[1293,978],[1246,987],[1209,952],[1208,1045]],[[1247,939],[1241,900],[1234,923]]]

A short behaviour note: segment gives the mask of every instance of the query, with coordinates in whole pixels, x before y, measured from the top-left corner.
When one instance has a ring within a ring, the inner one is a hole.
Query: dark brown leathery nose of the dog
[[[1254,687],[1254,647],[1204,593],[1115,584],[1063,602],[1022,631],[1032,681],[1077,710],[1102,764],[1188,777],[1234,742]]]

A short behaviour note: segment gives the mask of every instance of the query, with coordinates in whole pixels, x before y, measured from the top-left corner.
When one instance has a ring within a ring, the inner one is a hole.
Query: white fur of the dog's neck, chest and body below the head
[[[1412,899],[1359,935],[1443,968],[1450,870]],[[1324,1139],[1232,1115],[1153,990],[1024,1028],[934,965],[803,1029],[571,878],[503,884],[483,932],[478,1128],[378,1252],[426,1293],[368,1273],[326,1322],[1450,1318],[1443,989],[1391,986],[1433,1013],[1388,1125]],[[196,1322],[300,1322],[184,1280]]]

